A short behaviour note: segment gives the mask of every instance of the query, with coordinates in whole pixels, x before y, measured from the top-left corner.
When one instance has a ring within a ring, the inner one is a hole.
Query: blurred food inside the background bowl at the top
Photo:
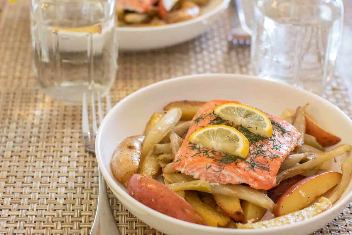
[[[118,26],[159,26],[193,19],[209,0],[117,0]]]

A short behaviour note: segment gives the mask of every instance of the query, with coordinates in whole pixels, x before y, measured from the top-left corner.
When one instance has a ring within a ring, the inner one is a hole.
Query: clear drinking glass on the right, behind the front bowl
[[[340,47],[342,0],[256,0],[254,74],[321,94]]]

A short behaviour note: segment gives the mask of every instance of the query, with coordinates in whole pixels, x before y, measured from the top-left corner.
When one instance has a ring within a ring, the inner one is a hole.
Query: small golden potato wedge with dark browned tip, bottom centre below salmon
[[[213,194],[216,204],[225,215],[230,216],[234,221],[244,222],[244,213],[238,197],[228,197]]]

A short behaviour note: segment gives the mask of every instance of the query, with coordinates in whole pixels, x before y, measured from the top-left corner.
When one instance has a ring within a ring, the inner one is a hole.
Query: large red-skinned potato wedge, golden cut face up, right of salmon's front
[[[339,184],[341,173],[330,171],[305,178],[291,186],[277,201],[274,207],[276,217],[298,211]]]

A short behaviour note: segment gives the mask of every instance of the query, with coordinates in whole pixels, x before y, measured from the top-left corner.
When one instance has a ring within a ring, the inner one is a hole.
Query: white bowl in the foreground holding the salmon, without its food
[[[270,229],[226,229],[181,221],[161,214],[130,197],[126,187],[113,177],[110,160],[114,149],[127,136],[141,134],[151,113],[161,111],[175,100],[238,100],[280,115],[284,109],[295,109],[309,103],[308,111],[327,130],[341,137],[341,143],[352,143],[351,120],[336,106],[300,88],[232,74],[192,75],[170,79],[144,87],[122,99],[104,118],[96,138],[95,149],[99,167],[115,196],[135,216],[168,235],[302,235],[309,234],[337,216],[352,198],[352,183],[333,207],[300,223]],[[347,155],[347,154],[345,154]]]

